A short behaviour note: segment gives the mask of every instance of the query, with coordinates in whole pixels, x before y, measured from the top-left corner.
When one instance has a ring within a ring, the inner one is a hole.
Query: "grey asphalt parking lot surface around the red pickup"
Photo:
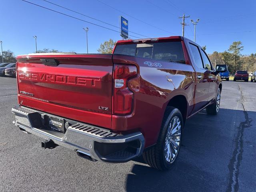
[[[187,121],[178,161],[160,172],[137,158],[90,162],[13,124],[16,79],[0,77],[0,191],[256,191],[256,83],[223,82],[217,116]]]

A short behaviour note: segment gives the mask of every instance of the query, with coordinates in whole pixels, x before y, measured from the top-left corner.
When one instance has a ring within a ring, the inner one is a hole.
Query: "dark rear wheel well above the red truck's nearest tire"
[[[167,106],[172,106],[172,107],[175,107],[178,110],[180,110],[180,112],[182,114],[183,122],[186,121],[188,103],[187,103],[185,96],[183,96],[183,95],[174,96],[168,102]]]

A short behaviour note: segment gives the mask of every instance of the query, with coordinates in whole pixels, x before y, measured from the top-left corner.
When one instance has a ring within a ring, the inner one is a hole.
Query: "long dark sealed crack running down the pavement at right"
[[[235,147],[233,151],[233,156],[230,159],[230,162],[228,164],[229,169],[229,179],[228,179],[228,186],[226,188],[226,192],[235,192],[239,189],[239,182],[238,182],[238,176],[239,176],[239,168],[242,161],[242,154],[243,154],[243,136],[244,136],[244,129],[249,128],[251,126],[252,119],[249,118],[248,113],[244,107],[243,101],[244,101],[244,94],[242,90],[239,87],[239,91],[241,93],[241,98],[238,100],[242,102],[242,106],[244,108],[244,122],[240,122],[239,126],[237,127],[237,134],[235,138]]]

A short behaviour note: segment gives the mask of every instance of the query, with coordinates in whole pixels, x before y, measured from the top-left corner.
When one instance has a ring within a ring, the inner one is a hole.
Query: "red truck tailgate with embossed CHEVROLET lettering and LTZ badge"
[[[111,54],[34,54],[17,60],[21,105],[111,128]]]

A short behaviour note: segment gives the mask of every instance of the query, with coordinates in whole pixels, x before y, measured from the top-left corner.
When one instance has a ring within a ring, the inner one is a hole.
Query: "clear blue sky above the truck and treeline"
[[[28,1],[113,30],[119,30],[43,0]],[[196,42],[201,46],[206,45],[207,53],[223,52],[232,42],[238,40],[244,45],[242,54],[256,53],[255,0],[183,0],[182,4],[179,0],[48,1],[115,26],[119,26],[119,16],[124,16],[129,22],[129,31],[152,38],[182,35],[181,19],[178,19],[178,16],[185,13],[186,16],[190,15],[194,21],[200,18],[196,26]],[[189,26],[185,27],[185,36],[193,40],[194,28],[190,18],[186,19]],[[53,48],[63,52],[85,53],[86,34],[83,27],[89,28],[89,53],[96,53],[100,44],[109,38],[121,39],[118,32],[106,30],[21,0],[0,0],[0,40],[3,42],[3,50],[12,50],[16,55],[35,51],[35,41],[32,37],[34,35],[38,37],[38,50]],[[134,39],[134,37],[131,38]]]

